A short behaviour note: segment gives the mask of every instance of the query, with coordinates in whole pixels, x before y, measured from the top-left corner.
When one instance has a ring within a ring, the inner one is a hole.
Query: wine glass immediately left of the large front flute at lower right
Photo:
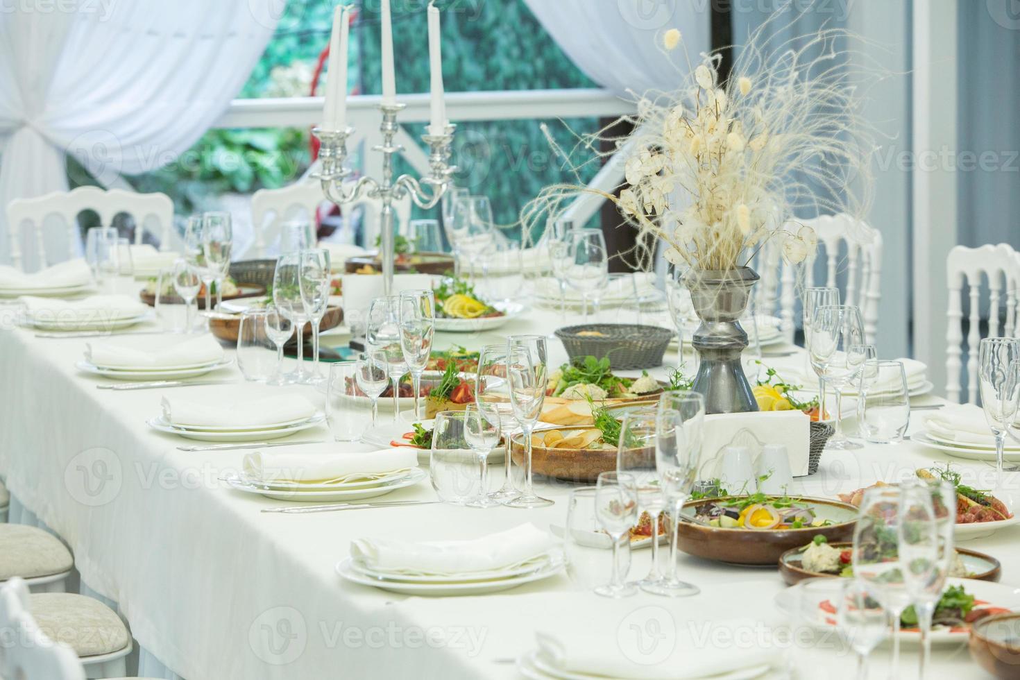
[[[900,668],[900,617],[913,599],[904,578],[898,538],[901,501],[898,486],[872,486],[864,491],[851,552],[854,577],[867,585],[892,620],[894,678],[899,677]]]

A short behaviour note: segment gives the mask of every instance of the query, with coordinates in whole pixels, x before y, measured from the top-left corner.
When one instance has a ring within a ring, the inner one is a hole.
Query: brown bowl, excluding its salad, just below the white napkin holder
[[[854,537],[858,509],[828,499],[801,498],[821,519],[834,524],[803,529],[723,529],[694,522],[695,511],[707,503],[735,500],[736,496],[703,499],[683,506],[677,547],[695,557],[738,565],[776,566],[786,551],[802,547],[822,534],[830,543]]]

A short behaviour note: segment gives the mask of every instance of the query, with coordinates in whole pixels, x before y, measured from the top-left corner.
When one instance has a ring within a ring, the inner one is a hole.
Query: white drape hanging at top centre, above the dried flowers
[[[667,58],[662,34],[678,29],[692,63],[709,49],[708,2],[690,0],[525,0],[578,68],[620,95],[671,92],[686,70],[682,52]],[[678,72],[677,67],[682,67]]]

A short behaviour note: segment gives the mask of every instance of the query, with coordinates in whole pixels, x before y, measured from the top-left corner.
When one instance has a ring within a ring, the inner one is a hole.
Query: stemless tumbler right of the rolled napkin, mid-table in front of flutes
[[[440,501],[458,506],[477,501],[484,492],[465,420],[463,411],[437,413],[428,457],[428,473]]]

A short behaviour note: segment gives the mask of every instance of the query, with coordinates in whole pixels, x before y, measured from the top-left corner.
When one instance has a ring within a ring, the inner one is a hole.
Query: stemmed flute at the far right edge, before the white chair
[[[981,408],[988,428],[996,437],[996,471],[1002,479],[1003,470],[1013,472],[1016,466],[1003,467],[1006,433],[1011,432],[1020,404],[1020,380],[1013,372],[1020,360],[1020,339],[985,337],[978,350],[978,387]]]

